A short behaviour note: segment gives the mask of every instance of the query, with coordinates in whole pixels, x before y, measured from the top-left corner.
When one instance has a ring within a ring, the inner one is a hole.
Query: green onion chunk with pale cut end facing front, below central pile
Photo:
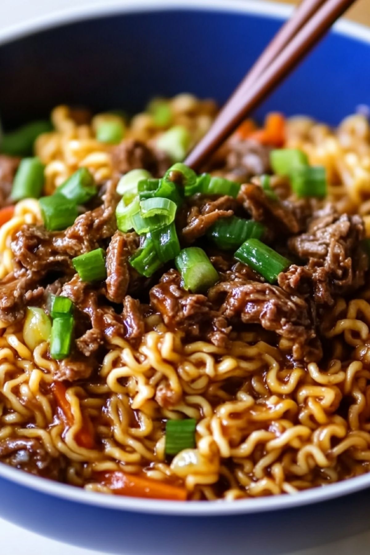
[[[210,259],[197,246],[183,249],[175,258],[176,268],[184,281],[184,289],[193,293],[206,291],[219,280],[219,274],[212,266]]]

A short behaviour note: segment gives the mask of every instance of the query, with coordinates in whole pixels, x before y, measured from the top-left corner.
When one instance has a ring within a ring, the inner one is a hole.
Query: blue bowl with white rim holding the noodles
[[[2,31],[2,121],[11,128],[58,103],[134,112],[181,91],[222,103],[288,11],[261,1],[136,0]],[[369,103],[369,65],[370,32],[341,22],[256,115],[278,109],[338,123]],[[0,515],[107,553],[277,555],[366,531],[368,488],[370,475],[296,496],[173,503],[87,493],[0,465]]]

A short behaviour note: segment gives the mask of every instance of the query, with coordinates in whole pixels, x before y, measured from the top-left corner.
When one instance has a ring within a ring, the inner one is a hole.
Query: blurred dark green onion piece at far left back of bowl
[[[33,143],[42,133],[52,130],[52,124],[46,120],[31,122],[5,133],[0,142],[0,151],[9,156],[31,156]]]

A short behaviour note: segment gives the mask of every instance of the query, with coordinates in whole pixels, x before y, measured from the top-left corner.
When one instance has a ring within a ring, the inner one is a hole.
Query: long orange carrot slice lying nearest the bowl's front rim
[[[159,480],[152,480],[145,476],[125,474],[124,472],[97,472],[99,483],[116,495],[130,497],[146,497],[148,499],[169,499],[172,501],[186,501],[187,493],[184,487],[173,486]]]

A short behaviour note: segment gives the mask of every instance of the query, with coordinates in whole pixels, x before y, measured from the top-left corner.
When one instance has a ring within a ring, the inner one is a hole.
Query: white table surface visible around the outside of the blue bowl
[[[103,2],[101,0],[99,3]],[[155,2],[155,0],[153,0]],[[110,0],[110,4],[116,2],[120,4],[124,0]],[[147,3],[149,3],[148,0]],[[88,6],[97,4],[91,0],[0,0],[1,18],[0,29],[12,27],[21,21],[42,17],[44,14],[64,11],[70,6]],[[370,518],[369,518],[370,522]],[[9,522],[0,518],[0,553],[7,555],[107,555],[103,552],[90,551],[90,549],[82,549],[79,547],[66,547],[65,544],[54,541],[52,539],[43,538],[38,534],[14,526]],[[330,547],[321,549],[307,549],[299,553],[287,555],[368,555],[370,545],[370,531],[361,534],[356,538],[331,544]],[[130,553],[121,553],[120,555],[131,555]],[[148,553],[148,555],[159,555],[159,553]],[[239,555],[239,554],[236,554]]]

